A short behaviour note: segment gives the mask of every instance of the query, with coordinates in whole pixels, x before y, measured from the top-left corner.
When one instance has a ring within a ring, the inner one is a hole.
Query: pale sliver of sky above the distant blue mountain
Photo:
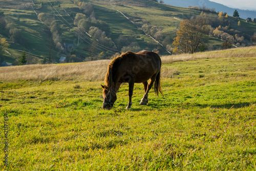
[[[231,8],[239,8],[246,10],[256,10],[256,2],[255,0],[210,0],[212,2],[216,2],[219,4],[223,4],[225,6]]]

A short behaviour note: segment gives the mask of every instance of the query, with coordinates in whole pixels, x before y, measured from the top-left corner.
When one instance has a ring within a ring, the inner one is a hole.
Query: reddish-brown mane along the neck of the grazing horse
[[[110,88],[110,89],[113,89],[114,88],[114,78],[113,78],[113,75],[116,73],[117,71],[117,68],[120,64],[120,62],[122,61],[122,59],[126,58],[126,57],[129,57],[129,56],[133,56],[135,55],[134,52],[131,52],[131,51],[127,51],[125,53],[122,53],[120,56],[118,57],[115,57],[109,64],[109,67],[108,67],[108,71],[106,72],[106,75],[105,75],[105,79],[104,79],[104,82],[105,82],[105,85]]]

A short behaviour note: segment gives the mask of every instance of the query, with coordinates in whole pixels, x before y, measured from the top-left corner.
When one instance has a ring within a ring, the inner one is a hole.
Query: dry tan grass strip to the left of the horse
[[[0,80],[103,80],[110,60],[0,68]]]

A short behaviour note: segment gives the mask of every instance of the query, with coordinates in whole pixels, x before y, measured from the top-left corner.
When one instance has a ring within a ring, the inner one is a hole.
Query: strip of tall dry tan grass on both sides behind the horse
[[[256,47],[237,48],[195,54],[162,56],[162,77],[177,73],[164,64],[195,60],[202,58],[256,57]],[[66,63],[57,65],[26,65],[0,68],[0,81],[13,80],[89,80],[104,79],[108,63],[111,60],[96,60],[82,63]]]

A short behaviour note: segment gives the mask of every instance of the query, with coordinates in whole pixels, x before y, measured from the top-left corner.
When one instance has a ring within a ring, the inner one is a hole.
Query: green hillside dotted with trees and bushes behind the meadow
[[[206,50],[230,37],[237,47],[253,45],[255,23],[201,9],[148,0],[9,0],[0,2],[0,37],[9,44],[0,58],[16,65],[24,50],[27,64],[105,59],[127,50],[169,54],[181,20],[199,15],[212,28]]]

